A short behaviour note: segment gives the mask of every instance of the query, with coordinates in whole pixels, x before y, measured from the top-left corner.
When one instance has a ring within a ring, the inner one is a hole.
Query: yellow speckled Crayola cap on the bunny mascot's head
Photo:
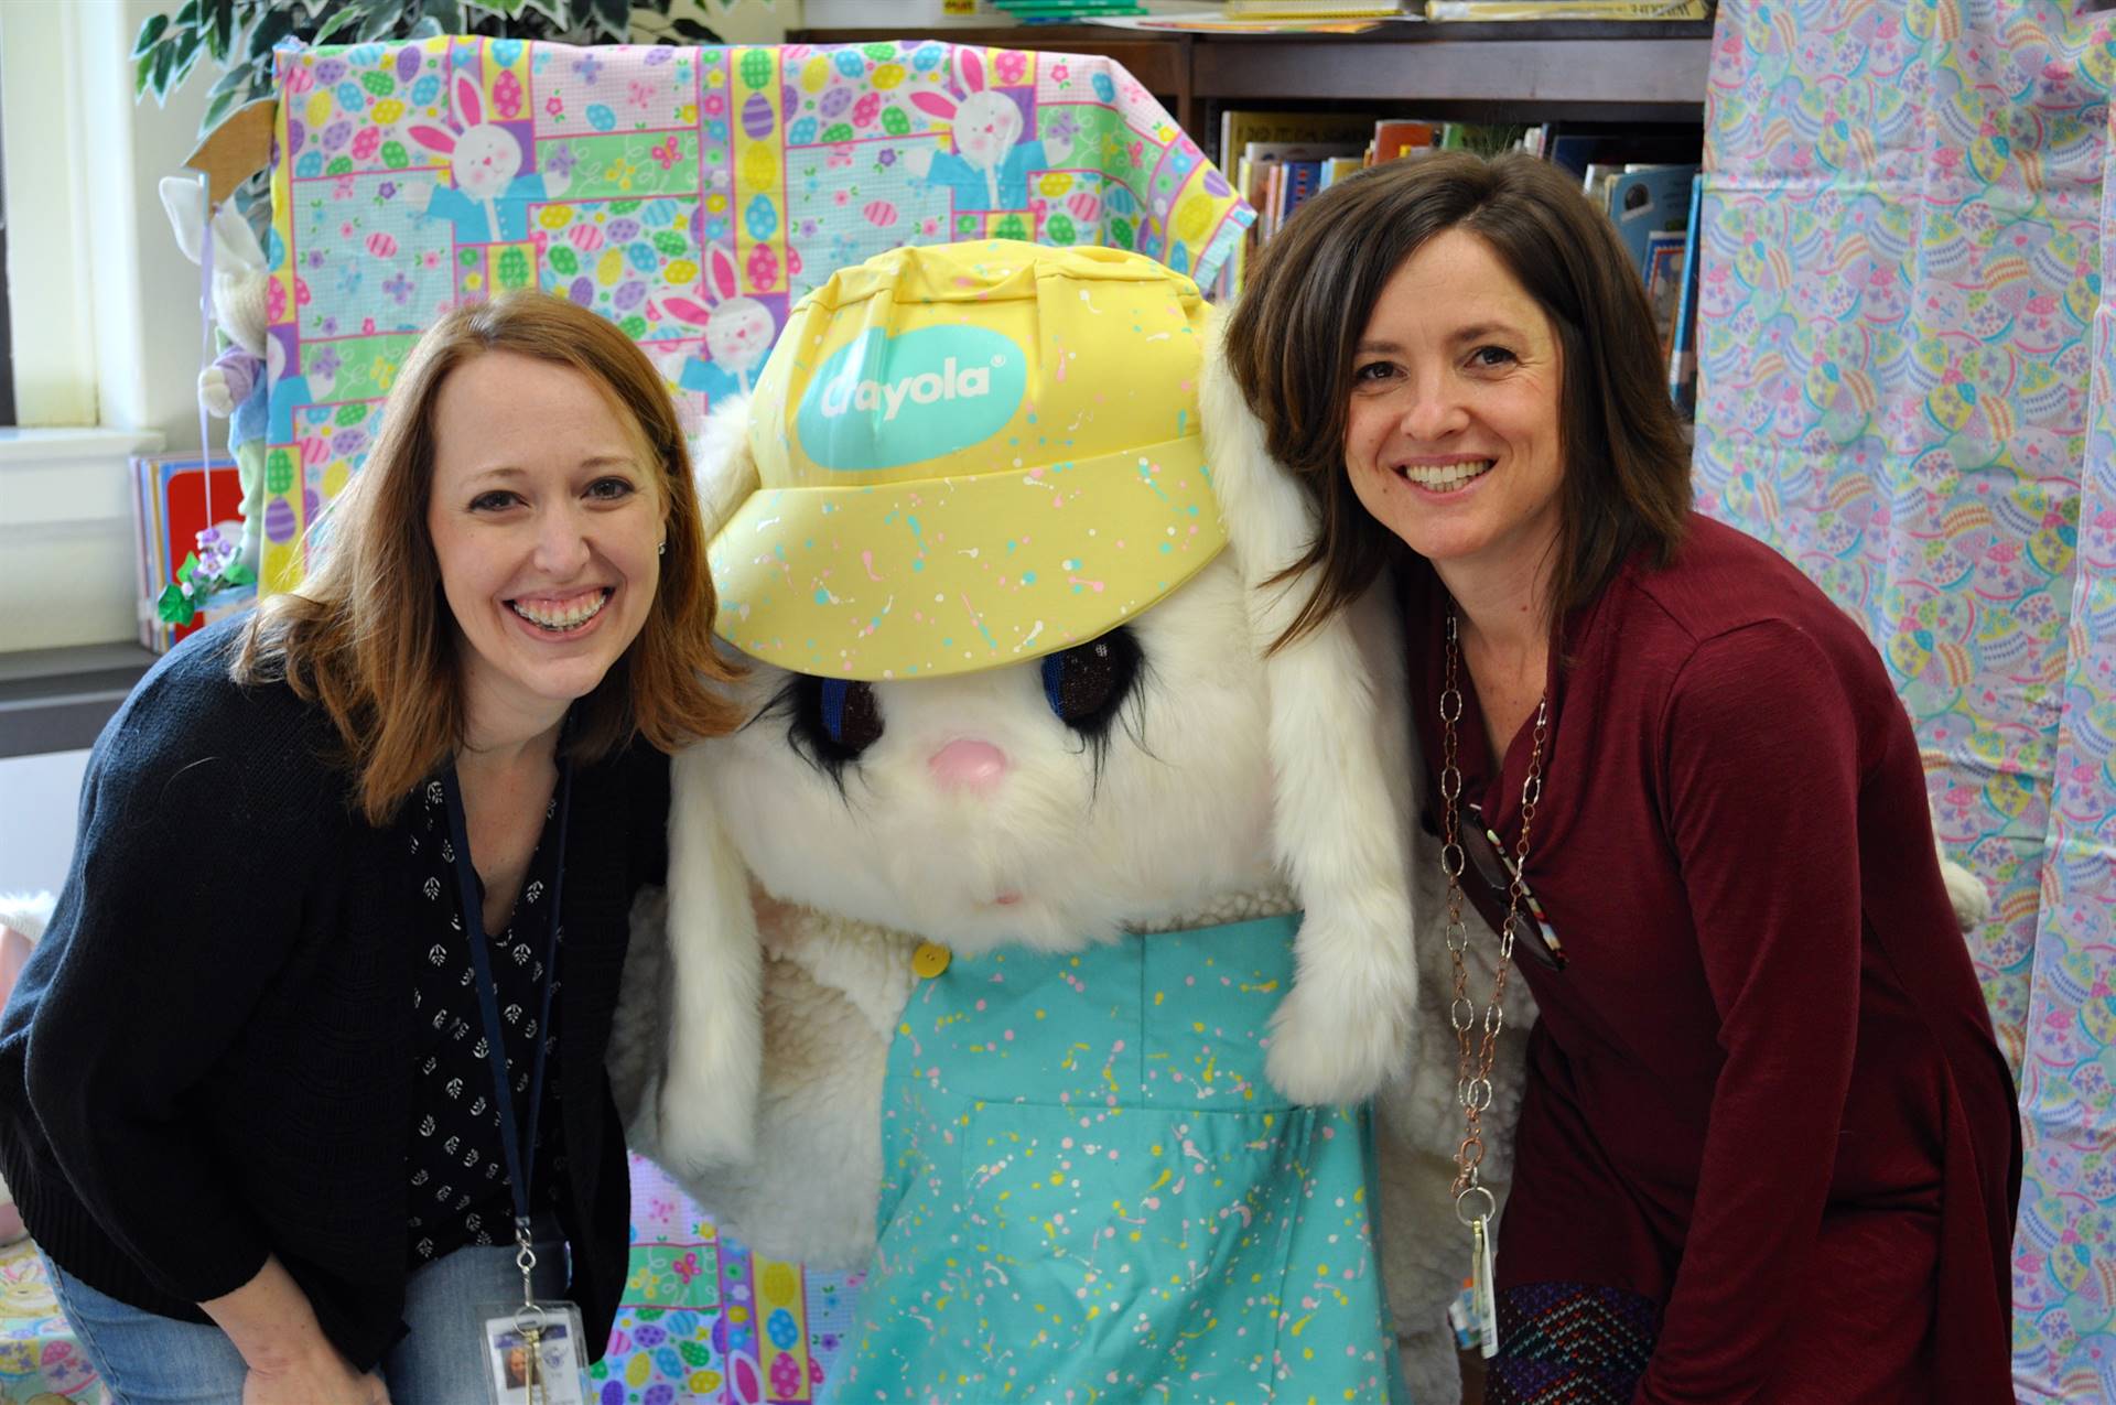
[[[802,298],[713,537],[719,633],[823,677],[971,673],[1102,635],[1225,546],[1206,305],[1121,250],[901,248]]]

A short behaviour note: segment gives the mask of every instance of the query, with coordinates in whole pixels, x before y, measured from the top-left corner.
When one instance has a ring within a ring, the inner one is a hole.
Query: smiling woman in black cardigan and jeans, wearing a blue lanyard
[[[599,1356],[626,1274],[626,914],[667,751],[734,722],[675,406],[571,303],[461,307],[324,527],[104,730],[0,1018],[0,1162],[121,1403],[485,1399],[489,1308]]]

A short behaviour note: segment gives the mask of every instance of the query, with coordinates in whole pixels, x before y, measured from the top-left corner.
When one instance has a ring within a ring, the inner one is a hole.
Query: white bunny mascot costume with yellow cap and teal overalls
[[[1215,334],[1136,254],[906,248],[707,425],[753,722],[677,758],[614,1075],[732,1234],[868,1265],[840,1399],[1403,1401],[1384,1191],[1454,1397],[1454,1124],[1378,1191],[1365,1105],[1454,1039],[1401,639],[1265,656],[1312,518]]]

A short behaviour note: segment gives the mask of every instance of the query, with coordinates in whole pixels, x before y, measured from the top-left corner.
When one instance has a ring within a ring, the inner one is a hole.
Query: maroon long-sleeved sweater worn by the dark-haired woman
[[[1447,601],[1409,576],[1437,781]],[[1500,1291],[1657,1301],[1640,1405],[2010,1401],[2014,1090],[1881,658],[1701,516],[1559,654],[1528,882],[1568,965],[1517,956],[1543,1018]],[[1462,796],[1511,851],[1528,728],[1494,774],[1464,698]]]

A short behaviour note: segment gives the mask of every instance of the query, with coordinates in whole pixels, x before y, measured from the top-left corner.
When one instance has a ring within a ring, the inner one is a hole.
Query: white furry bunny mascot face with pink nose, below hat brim
[[[711,804],[772,895],[959,952],[1077,950],[1280,882],[1261,660],[1221,559],[1094,641],[925,681],[760,664]]]

